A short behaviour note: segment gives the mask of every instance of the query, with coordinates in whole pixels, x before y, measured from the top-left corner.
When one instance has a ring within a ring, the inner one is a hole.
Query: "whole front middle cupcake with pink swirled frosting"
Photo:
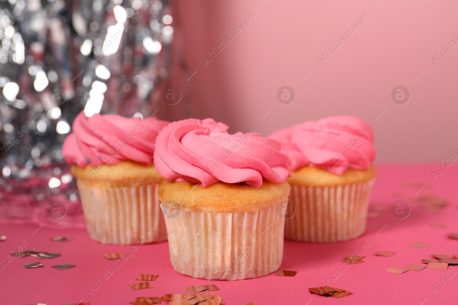
[[[169,180],[159,200],[170,261],[194,278],[256,278],[282,262],[278,211],[290,190],[288,157],[273,139],[227,129],[211,118],[187,119],[156,139],[154,164]]]

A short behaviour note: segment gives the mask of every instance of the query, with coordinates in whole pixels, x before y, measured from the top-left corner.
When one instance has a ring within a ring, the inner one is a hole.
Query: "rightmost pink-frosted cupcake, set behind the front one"
[[[374,135],[359,118],[308,121],[269,136],[290,160],[285,238],[334,242],[364,233],[376,177]]]

